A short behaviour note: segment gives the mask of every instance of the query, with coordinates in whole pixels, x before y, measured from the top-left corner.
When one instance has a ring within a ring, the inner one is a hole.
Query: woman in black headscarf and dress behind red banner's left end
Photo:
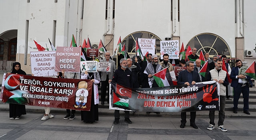
[[[20,63],[19,62],[14,62],[12,65],[12,72],[11,74],[22,74],[22,75],[27,75],[26,72],[24,72],[21,69]],[[10,119],[11,120],[18,120],[20,119],[21,115],[26,114],[26,108],[24,104],[9,104],[10,107]]]

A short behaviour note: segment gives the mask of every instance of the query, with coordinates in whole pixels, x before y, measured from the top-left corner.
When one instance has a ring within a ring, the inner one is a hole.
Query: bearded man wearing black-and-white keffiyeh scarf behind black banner
[[[148,84],[149,84],[150,88],[156,88],[156,87],[158,87],[158,84],[154,80],[153,74],[162,70],[162,66],[160,64],[158,64],[158,57],[156,54],[152,55],[152,60],[153,61],[150,64],[148,64],[146,69],[144,70],[144,74],[145,74],[145,76],[148,77]],[[149,114],[149,113],[150,112],[147,112],[147,114]],[[155,112],[155,113],[160,114],[160,112]]]

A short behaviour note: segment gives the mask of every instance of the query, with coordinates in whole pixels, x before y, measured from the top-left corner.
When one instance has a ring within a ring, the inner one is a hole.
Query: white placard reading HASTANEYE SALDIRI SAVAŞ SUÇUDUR
[[[56,51],[30,52],[31,72],[34,76],[57,76]]]

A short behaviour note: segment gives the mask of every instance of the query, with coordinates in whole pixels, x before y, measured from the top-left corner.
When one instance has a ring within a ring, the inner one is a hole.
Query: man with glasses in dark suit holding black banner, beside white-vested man
[[[183,85],[186,84],[186,86],[194,85],[196,82],[200,82],[200,77],[198,75],[198,72],[194,71],[194,62],[188,61],[186,62],[186,70],[183,70],[180,72],[177,80],[177,84]],[[180,128],[184,128],[186,126],[186,112],[181,112],[181,124]],[[190,126],[192,126],[195,129],[198,129],[195,123],[196,120],[196,112],[192,111],[190,112]]]

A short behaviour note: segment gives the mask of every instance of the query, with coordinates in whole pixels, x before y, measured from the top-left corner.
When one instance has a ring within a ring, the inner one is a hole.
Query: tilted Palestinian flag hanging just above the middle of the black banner
[[[169,78],[167,78],[167,77],[169,77]],[[153,75],[153,78],[159,87],[173,85],[172,77],[170,76],[170,72],[169,72],[168,68],[164,68],[163,70],[160,70],[159,72],[155,73]]]

